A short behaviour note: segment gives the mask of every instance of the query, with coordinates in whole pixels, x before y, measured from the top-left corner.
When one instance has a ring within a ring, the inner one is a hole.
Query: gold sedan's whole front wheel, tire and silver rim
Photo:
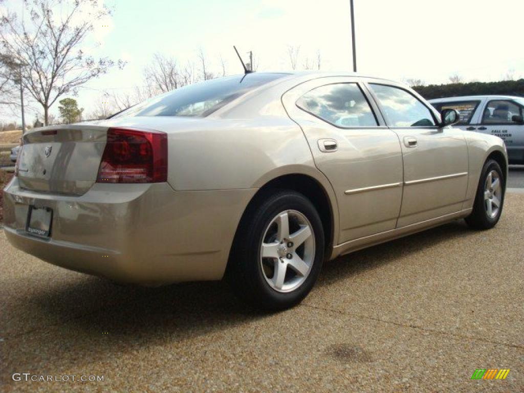
[[[502,213],[505,179],[498,162],[487,160],[478,182],[473,211],[466,223],[476,230],[493,228]]]

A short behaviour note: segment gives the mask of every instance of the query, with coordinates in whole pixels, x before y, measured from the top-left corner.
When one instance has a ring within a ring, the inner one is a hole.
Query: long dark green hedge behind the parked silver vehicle
[[[462,95],[517,95],[524,97],[524,79],[501,82],[450,83],[413,87],[426,100]]]

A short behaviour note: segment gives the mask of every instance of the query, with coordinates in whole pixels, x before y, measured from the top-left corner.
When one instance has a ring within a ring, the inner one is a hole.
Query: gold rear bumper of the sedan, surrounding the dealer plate
[[[168,183],[100,184],[82,196],[4,193],[11,244],[53,265],[144,285],[218,280],[256,190],[174,191]],[[51,236],[26,231],[29,205],[53,210]]]

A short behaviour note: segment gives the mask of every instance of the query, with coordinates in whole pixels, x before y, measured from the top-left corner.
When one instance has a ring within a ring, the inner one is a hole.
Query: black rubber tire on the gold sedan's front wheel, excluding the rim
[[[484,199],[484,192],[486,187],[486,181],[489,173],[495,171],[498,173],[498,178],[500,179],[500,206],[498,208],[498,213],[492,217],[488,214],[487,203]],[[481,178],[478,181],[477,193],[475,195],[475,202],[473,204],[473,211],[469,216],[466,217],[466,223],[468,226],[475,230],[488,230],[497,225],[500,215],[502,214],[502,208],[504,205],[504,194],[506,191],[506,179],[502,169],[498,162],[492,159],[489,159],[484,164],[481,172]]]

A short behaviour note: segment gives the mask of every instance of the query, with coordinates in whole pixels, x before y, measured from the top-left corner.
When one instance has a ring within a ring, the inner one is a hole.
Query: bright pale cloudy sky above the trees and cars
[[[102,2],[102,0],[99,0]],[[358,71],[395,80],[445,83],[495,81],[512,73],[524,78],[524,0],[354,0]],[[4,6],[19,7],[19,0]],[[242,72],[232,46],[253,50],[258,70],[288,70],[289,45],[300,47],[298,67],[321,55],[325,71],[351,70],[349,0],[105,0],[111,19],[95,27],[94,56],[128,61],[80,90],[89,114],[104,90],[122,92],[144,85],[143,68],[155,52],[185,63],[199,48],[211,71]],[[107,26],[107,27],[106,27]],[[5,111],[4,111],[5,112]],[[58,113],[56,104],[51,113]],[[0,113],[0,119],[14,119]],[[34,121],[35,113],[28,120]]]

